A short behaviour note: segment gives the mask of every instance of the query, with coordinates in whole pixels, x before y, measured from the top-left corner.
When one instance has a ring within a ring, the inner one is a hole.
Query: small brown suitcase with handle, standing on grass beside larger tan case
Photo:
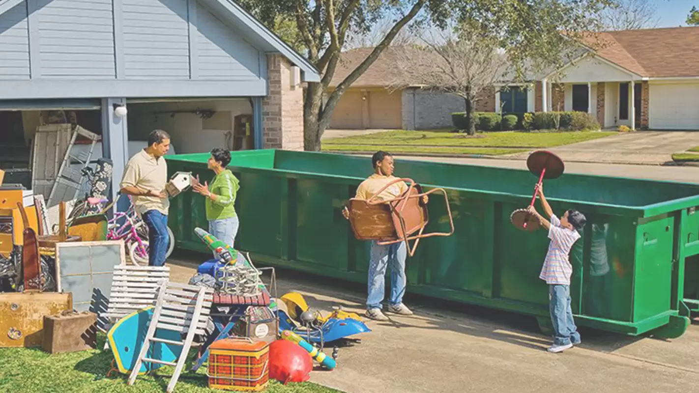
[[[63,311],[44,316],[42,348],[48,353],[68,353],[94,349],[97,345],[97,314],[89,311]]]

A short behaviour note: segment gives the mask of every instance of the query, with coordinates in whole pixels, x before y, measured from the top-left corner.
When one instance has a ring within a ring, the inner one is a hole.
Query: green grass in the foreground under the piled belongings
[[[101,334],[99,346],[104,345],[105,335]],[[192,348],[190,355],[194,357]],[[13,393],[162,393],[170,380],[173,368],[165,366],[154,376],[138,376],[134,386],[127,385],[128,376],[107,372],[112,361],[112,352],[88,350],[77,353],[50,355],[41,349],[2,348],[0,349],[0,392]],[[185,366],[191,369],[191,362]],[[206,387],[206,370],[197,373],[182,373],[175,392],[224,392]],[[282,385],[276,381],[269,383],[269,393],[333,393],[338,392],[312,383]]]

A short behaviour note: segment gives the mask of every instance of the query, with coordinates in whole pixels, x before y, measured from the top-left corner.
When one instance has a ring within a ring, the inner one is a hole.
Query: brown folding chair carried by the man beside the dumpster
[[[396,198],[380,200],[378,196],[390,186],[399,181],[406,181],[408,190]],[[429,218],[427,205],[422,203],[424,195],[441,192],[444,195],[447,214],[449,216],[449,232],[423,233]],[[381,188],[368,200],[352,198],[347,201],[349,223],[357,240],[377,240],[378,244],[387,245],[405,242],[408,253],[412,257],[417,244],[424,237],[450,236],[454,233],[452,210],[449,208],[449,198],[444,188],[432,188],[426,193],[422,187],[409,178],[396,179]],[[414,235],[417,232],[417,235]],[[415,240],[410,246],[410,241]]]

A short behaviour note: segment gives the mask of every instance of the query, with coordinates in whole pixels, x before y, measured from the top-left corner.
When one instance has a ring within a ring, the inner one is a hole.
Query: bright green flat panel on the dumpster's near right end
[[[633,320],[640,322],[670,310],[672,249],[675,217],[658,216],[640,221],[636,232]]]

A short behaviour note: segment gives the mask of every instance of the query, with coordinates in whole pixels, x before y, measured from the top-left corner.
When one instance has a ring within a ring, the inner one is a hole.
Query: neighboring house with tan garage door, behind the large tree
[[[332,91],[368,57],[373,47],[343,52],[329,85]],[[424,130],[452,126],[452,112],[463,112],[463,98],[440,91],[428,91],[411,83],[396,66],[401,47],[390,47],[345,91],[331,120],[331,128],[402,128]],[[408,87],[392,91],[400,80]],[[475,105],[476,110],[495,110],[494,90],[489,89]]]

